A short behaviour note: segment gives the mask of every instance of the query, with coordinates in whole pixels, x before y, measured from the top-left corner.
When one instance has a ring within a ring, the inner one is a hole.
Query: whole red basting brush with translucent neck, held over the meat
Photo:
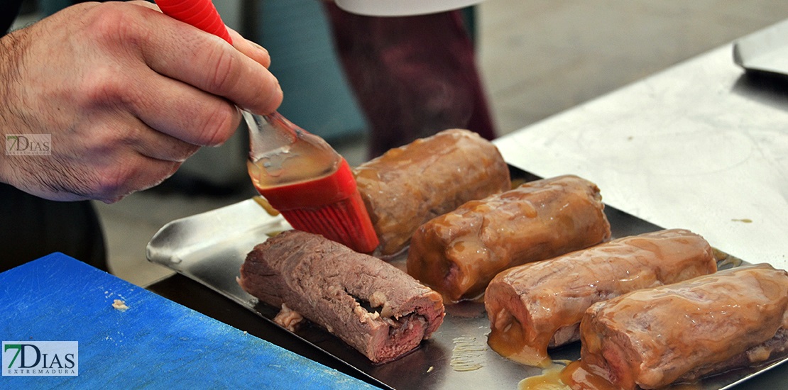
[[[232,44],[210,0],[156,3],[166,15]],[[358,252],[374,251],[377,234],[348,162],[324,139],[279,113],[242,112],[249,128],[249,176],[260,195],[293,228],[321,234]]]

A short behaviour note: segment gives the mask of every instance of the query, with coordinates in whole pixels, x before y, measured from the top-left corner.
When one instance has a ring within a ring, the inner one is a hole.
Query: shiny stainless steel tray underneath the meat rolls
[[[515,180],[535,180],[537,176],[512,168]],[[630,214],[605,207],[614,237],[659,230],[660,227]],[[237,304],[271,321],[278,308],[258,303],[236,283],[239,269],[257,243],[269,234],[290,226],[282,217],[272,217],[253,199],[204,214],[172,221],[161,228],[147,245],[147,258],[225,295]],[[738,259],[719,253],[721,267]],[[403,267],[404,258],[392,264]],[[443,325],[417,350],[394,362],[373,365],[358,351],[317,325],[302,326],[299,337],[348,363],[384,388],[517,388],[519,381],[541,374],[535,367],[522,366],[500,357],[487,346],[489,321],[481,303],[460,303],[447,307]],[[554,360],[576,360],[579,343],[551,351]],[[756,373],[788,361],[783,358],[747,370],[734,370],[704,380],[702,389],[729,388]]]

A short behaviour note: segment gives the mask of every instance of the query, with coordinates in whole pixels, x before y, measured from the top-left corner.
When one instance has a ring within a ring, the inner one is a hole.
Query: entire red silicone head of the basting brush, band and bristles
[[[374,251],[379,243],[344,158],[329,176],[259,192],[293,228],[320,234],[361,253]]]

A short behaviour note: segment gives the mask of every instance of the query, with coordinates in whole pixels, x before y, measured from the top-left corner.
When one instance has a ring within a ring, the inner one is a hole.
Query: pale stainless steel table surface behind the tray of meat
[[[732,50],[719,47],[495,143],[510,165],[583,176],[619,210],[788,269],[788,76],[745,73]],[[788,388],[788,365],[741,388]]]

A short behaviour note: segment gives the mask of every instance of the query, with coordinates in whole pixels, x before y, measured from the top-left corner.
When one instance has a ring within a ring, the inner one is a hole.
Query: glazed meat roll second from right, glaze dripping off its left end
[[[517,362],[544,366],[548,347],[580,339],[593,303],[717,270],[712,247],[682,229],[629,236],[507,269],[485,291],[488,343]]]

